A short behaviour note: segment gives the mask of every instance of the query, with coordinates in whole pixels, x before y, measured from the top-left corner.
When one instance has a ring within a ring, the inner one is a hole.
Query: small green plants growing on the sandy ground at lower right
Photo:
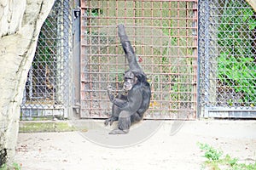
[[[223,151],[216,150],[209,144],[198,143],[201,150],[205,151],[204,157],[207,158],[205,165],[210,169],[220,170],[255,170],[256,161],[254,163],[245,164],[239,163],[237,158],[232,158],[230,155],[223,154]]]

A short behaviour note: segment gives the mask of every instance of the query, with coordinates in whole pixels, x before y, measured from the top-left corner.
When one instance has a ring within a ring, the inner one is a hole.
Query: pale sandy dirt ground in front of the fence
[[[24,170],[194,170],[206,161],[198,142],[243,162],[256,159],[256,121],[143,121],[116,136],[102,124],[90,124],[88,132],[20,133],[15,162]]]

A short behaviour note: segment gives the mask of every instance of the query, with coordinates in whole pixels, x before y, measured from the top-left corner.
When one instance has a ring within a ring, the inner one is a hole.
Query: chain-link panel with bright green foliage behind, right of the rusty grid
[[[256,117],[256,15],[244,0],[200,3],[205,116]]]

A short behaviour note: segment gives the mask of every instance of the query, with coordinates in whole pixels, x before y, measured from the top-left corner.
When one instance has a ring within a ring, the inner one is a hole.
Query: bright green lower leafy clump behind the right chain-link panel
[[[218,78],[226,86],[235,88],[236,93],[251,94],[243,98],[243,102],[255,103],[256,65],[253,58],[235,57],[228,52],[221,53],[218,57]]]

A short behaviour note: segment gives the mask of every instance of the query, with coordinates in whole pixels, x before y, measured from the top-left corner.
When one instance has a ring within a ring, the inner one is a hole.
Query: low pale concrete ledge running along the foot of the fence
[[[70,132],[80,131],[96,133],[99,136],[107,134],[114,127],[113,125],[104,126],[103,120],[76,120],[76,121],[22,121],[20,122],[20,133],[37,133],[37,132]],[[244,138],[256,139],[256,120],[201,120],[201,121],[148,121],[144,120],[131,126],[132,131],[144,129],[143,133],[148,129],[157,129],[165,127],[169,131],[169,135],[176,133],[189,133],[193,135],[218,136],[227,138]]]

